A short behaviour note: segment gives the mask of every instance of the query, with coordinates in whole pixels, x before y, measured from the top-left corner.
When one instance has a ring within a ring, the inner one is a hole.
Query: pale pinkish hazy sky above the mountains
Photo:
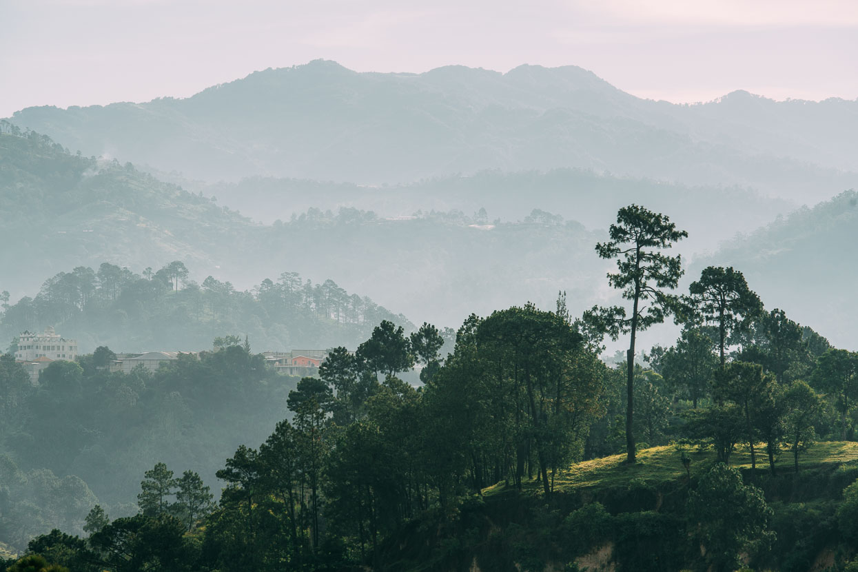
[[[0,0],[0,117],[184,97],[316,58],[590,69],[641,97],[858,97],[858,0]]]

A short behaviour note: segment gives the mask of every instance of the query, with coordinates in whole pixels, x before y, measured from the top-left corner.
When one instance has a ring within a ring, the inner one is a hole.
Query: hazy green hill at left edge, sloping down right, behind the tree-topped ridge
[[[14,268],[0,290],[13,293],[78,265],[145,268],[180,257],[215,270],[219,253],[250,248],[239,214],[9,124],[0,126],[0,218],[0,263]]]

